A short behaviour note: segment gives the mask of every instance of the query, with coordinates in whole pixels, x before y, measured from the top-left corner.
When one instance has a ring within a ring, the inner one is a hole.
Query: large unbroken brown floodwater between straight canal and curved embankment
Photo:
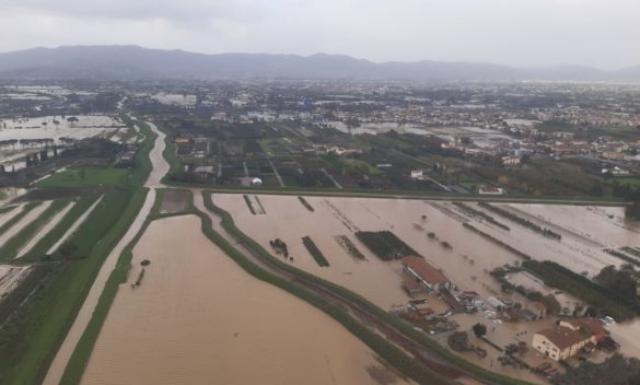
[[[384,366],[366,346],[247,275],[185,215],[154,221],[136,245],[82,384],[375,384],[371,369]]]

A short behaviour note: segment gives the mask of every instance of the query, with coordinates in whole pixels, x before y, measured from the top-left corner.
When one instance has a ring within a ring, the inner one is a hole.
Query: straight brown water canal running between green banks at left
[[[69,334],[65,338],[65,341],[60,346],[60,349],[56,353],[56,357],[49,366],[49,371],[47,372],[45,381],[43,382],[45,385],[57,385],[60,383],[62,374],[65,374],[65,369],[71,359],[71,354],[73,353],[73,350],[75,350],[78,341],[84,334],[84,330],[91,320],[93,311],[95,310],[100,296],[104,291],[106,281],[116,267],[123,249],[133,240],[136,234],[138,234],[142,228],[142,224],[144,224],[144,221],[147,220],[147,217],[151,212],[153,203],[155,202],[155,189],[162,187],[162,177],[166,174],[166,172],[168,172],[168,163],[166,163],[164,158],[162,158],[162,151],[164,150],[165,145],[165,136],[158,129],[158,127],[155,127],[155,125],[149,124],[149,127],[155,135],[158,135],[158,138],[155,139],[153,149],[149,154],[149,158],[153,163],[153,170],[149,175],[147,183],[144,184],[146,187],[149,187],[149,192],[147,194],[144,203],[138,213],[138,217],[136,217],[133,223],[131,223],[127,230],[125,236],[123,236],[123,238],[109,253],[104,264],[102,265],[95,281],[93,282],[93,285],[91,287],[89,294],[86,295],[86,299],[84,300],[84,303],[82,304],[82,307],[80,308],[80,312],[78,313],[78,316],[71,326],[71,329],[69,330]]]

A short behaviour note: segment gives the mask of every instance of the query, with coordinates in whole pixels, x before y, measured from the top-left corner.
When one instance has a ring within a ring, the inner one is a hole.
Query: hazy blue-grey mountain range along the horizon
[[[138,46],[63,46],[0,54],[0,79],[369,79],[640,82],[640,66],[614,71],[567,66],[525,69],[482,62],[389,61],[345,55],[195,54]]]

